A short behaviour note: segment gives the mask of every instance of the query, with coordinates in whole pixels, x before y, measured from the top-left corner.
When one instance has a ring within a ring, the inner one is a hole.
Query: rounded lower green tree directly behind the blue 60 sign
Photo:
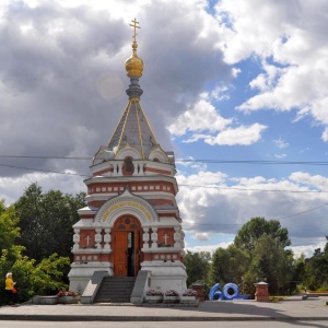
[[[248,254],[230,245],[226,249],[219,247],[212,256],[211,280],[216,283],[234,282],[241,284],[242,277],[246,273],[249,266]]]

